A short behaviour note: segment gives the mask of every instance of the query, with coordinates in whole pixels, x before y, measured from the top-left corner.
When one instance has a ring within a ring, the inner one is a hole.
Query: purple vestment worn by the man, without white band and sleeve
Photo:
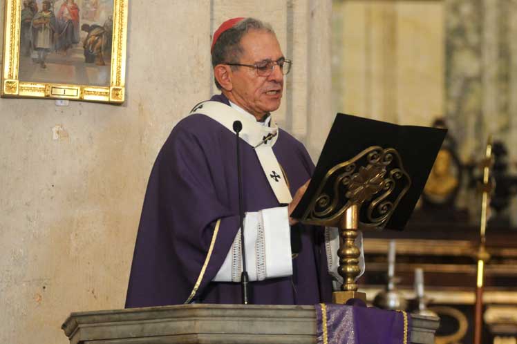
[[[223,95],[212,100],[229,105]],[[254,149],[241,141],[244,211],[279,207]],[[314,164],[301,142],[279,131],[274,154],[294,193]],[[162,146],[151,171],[135,244],[126,307],[176,305],[191,295],[218,235],[194,297],[196,303],[241,303],[241,285],[215,283],[239,227],[236,136],[201,114],[185,117]],[[250,283],[252,303],[314,305],[331,299],[324,233],[297,225],[301,252],[293,276]]]

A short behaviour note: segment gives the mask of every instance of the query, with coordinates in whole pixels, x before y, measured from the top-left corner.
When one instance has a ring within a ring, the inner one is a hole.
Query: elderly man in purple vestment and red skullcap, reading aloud
[[[271,116],[291,61],[270,26],[236,18],[215,32],[212,65],[222,94],[173,128],[153,166],[126,307],[241,303],[241,245],[252,303],[328,302],[325,232],[289,216],[314,165],[303,144]],[[244,243],[235,120],[243,125]]]

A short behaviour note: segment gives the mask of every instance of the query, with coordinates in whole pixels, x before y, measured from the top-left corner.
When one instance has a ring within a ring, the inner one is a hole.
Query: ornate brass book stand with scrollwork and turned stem
[[[357,292],[360,251],[355,245],[358,229],[382,229],[397,204],[411,187],[399,153],[381,146],[370,146],[346,162],[335,165],[325,175],[301,221],[339,228],[340,292],[334,303],[366,294]]]

